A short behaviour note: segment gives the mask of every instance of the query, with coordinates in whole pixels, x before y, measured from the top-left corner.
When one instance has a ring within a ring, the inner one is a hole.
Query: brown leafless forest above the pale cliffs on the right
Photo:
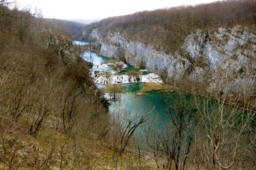
[[[109,17],[91,23],[85,31],[92,32],[97,28],[102,37],[109,31],[119,32],[130,40],[150,43],[156,49],[175,53],[183,45],[185,37],[194,30],[236,25],[254,27],[255,23],[255,0],[235,0]]]

